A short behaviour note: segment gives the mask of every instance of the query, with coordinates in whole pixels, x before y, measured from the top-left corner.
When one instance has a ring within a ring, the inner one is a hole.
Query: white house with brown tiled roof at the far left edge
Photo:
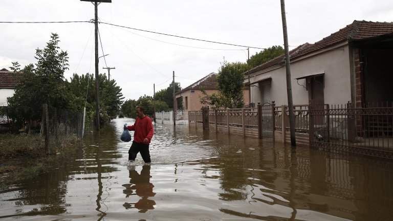
[[[19,83],[21,73],[0,70],[0,107],[7,106],[7,98],[15,93],[15,86]],[[7,117],[0,117],[0,122],[7,122]]]

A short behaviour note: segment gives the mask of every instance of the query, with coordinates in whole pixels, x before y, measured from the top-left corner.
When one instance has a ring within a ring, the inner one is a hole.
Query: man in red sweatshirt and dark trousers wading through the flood
[[[151,119],[144,114],[142,106],[137,106],[137,119],[132,126],[124,127],[128,130],[134,130],[134,141],[128,150],[128,160],[135,161],[138,152],[141,153],[142,159],[145,163],[150,163],[149,144],[154,135],[153,124]]]

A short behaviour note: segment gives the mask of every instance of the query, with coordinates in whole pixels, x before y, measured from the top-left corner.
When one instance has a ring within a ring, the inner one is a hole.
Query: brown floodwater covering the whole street
[[[393,162],[156,124],[127,163],[115,119],[75,154],[0,190],[2,220],[393,220]]]

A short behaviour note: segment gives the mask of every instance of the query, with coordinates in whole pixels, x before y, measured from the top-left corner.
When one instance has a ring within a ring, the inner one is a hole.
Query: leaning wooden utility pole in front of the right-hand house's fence
[[[286,74],[286,76],[287,76],[287,96],[288,96],[289,128],[291,131],[291,146],[296,146],[295,115],[293,113],[291,67],[290,67],[290,61],[289,61],[287,18],[286,18],[286,14],[285,14],[285,0],[281,0],[281,18],[282,18],[282,32],[283,32],[283,36],[284,36],[284,48],[285,48],[285,67],[286,67],[286,71],[287,71],[287,74]]]

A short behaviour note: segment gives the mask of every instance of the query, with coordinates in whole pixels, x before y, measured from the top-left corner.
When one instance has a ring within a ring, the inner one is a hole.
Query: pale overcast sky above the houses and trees
[[[94,6],[79,0],[1,0],[0,21],[88,21]],[[292,0],[286,1],[290,49],[314,43],[354,20],[393,21],[392,0]],[[98,6],[99,20],[125,27],[218,41],[248,47],[283,46],[279,0],[112,0]],[[35,49],[42,49],[51,33],[60,37],[60,48],[69,53],[65,78],[73,73],[94,73],[94,24],[0,23],[0,69],[11,62],[22,67],[35,63]],[[103,67],[122,88],[125,99],[153,95],[168,87],[175,72],[184,88],[211,72],[220,62],[247,60],[247,48],[220,45],[99,25]],[[250,56],[260,49],[250,48]],[[106,64],[105,64],[106,61]]]

